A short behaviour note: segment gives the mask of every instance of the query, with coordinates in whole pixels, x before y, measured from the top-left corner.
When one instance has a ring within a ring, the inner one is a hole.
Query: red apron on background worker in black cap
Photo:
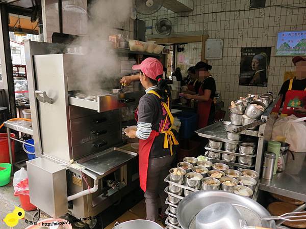
[[[204,82],[205,80],[203,80],[203,83]],[[200,96],[204,95],[202,87],[199,88],[199,95]],[[199,129],[206,127],[208,124],[212,102],[213,100],[211,98],[208,101],[198,101],[197,113],[198,113],[198,128]]]

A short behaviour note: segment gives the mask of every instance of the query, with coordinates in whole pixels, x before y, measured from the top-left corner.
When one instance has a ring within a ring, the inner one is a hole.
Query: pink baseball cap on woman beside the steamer
[[[157,76],[163,75],[164,67],[156,58],[147,58],[140,65],[134,65],[133,70],[141,70],[147,77],[156,79]]]

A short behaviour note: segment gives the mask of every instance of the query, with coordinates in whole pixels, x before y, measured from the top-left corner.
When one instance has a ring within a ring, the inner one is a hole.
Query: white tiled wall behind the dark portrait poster
[[[231,100],[247,93],[261,94],[270,89],[277,94],[285,71],[294,71],[291,57],[276,57],[274,53],[278,31],[306,30],[306,9],[298,7],[306,7],[306,0],[266,0],[266,8],[261,9],[249,9],[249,0],[194,0],[194,10],[186,16],[161,8],[154,15],[139,17],[147,26],[152,19],[169,18],[173,33],[207,30],[209,38],[224,39],[223,59],[209,64],[227,107]],[[238,85],[241,47],[272,47],[267,88]]]

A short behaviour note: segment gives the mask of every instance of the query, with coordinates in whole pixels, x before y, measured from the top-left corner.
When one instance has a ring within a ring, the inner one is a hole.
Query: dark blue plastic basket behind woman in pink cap
[[[177,119],[180,119],[180,138],[190,138],[194,131],[197,130],[197,114],[192,112],[182,111],[175,115]]]

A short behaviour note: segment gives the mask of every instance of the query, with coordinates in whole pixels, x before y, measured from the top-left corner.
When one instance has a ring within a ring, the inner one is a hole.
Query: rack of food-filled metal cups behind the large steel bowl
[[[259,184],[259,174],[251,169],[241,171],[230,169],[224,163],[185,157],[183,162],[177,163],[176,168],[169,170],[164,180],[169,185],[165,188],[168,194],[166,204],[168,228],[181,228],[176,219],[177,206],[180,201],[192,192],[199,190],[224,190],[247,197],[255,196]]]

